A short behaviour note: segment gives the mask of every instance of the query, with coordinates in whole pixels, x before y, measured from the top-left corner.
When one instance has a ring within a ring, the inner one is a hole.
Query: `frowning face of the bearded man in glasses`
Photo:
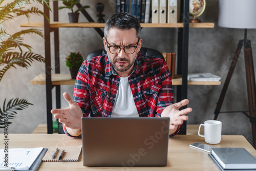
[[[108,38],[103,38],[103,43],[116,73],[121,77],[129,76],[133,70],[137,52],[140,50],[142,44],[142,39],[138,41],[136,30],[134,28],[130,30],[112,28],[109,30]],[[137,46],[137,48],[132,54],[126,54],[123,49],[118,54],[112,54],[108,48],[109,46],[119,46],[121,48]]]

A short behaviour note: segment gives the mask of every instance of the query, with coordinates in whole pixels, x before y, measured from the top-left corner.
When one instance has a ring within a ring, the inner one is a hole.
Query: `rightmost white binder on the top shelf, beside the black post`
[[[180,0],[167,0],[167,23],[179,23]]]

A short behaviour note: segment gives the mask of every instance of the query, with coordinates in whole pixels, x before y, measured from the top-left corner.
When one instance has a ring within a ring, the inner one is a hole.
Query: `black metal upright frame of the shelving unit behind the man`
[[[79,5],[78,5],[79,6]],[[181,23],[183,23],[182,28],[178,28],[178,53],[177,53],[177,74],[182,75],[182,85],[177,86],[177,101],[187,98],[187,73],[188,73],[188,37],[189,37],[189,0],[181,1]],[[53,20],[58,22],[58,2],[53,2]],[[50,11],[48,7],[44,6],[44,13],[50,18]],[[82,11],[83,15],[87,17],[89,22],[94,22],[86,10]],[[95,30],[101,36],[102,31],[99,28]],[[55,87],[55,98],[56,98],[56,108],[61,108],[60,104],[60,85],[52,85],[51,81],[51,45],[50,45],[50,32],[54,32],[54,60],[55,60],[55,74],[60,73],[59,64],[59,28],[50,28],[48,20],[44,19],[44,34],[45,34],[45,56],[46,56],[46,104],[47,104],[47,133],[53,133],[53,121],[52,121],[52,89]],[[183,109],[186,106],[183,107]],[[183,123],[186,134],[186,122]]]

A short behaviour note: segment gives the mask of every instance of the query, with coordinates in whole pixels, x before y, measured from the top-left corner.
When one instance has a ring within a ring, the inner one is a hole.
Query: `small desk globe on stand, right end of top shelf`
[[[205,10],[205,0],[189,0],[189,15],[194,16],[190,19],[190,23],[201,23],[196,17],[202,15]]]

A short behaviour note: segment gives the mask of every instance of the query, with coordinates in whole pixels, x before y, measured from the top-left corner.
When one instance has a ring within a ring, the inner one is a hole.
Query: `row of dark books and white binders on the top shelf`
[[[116,0],[116,12],[129,12],[140,23],[178,23],[180,0]]]

